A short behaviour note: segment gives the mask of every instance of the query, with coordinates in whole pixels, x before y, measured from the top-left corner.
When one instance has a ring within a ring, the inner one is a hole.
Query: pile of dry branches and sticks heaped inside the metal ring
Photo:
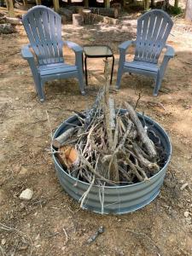
[[[115,108],[109,96],[108,61],[106,84],[99,91],[90,111],[75,113],[72,124],[53,146],[67,172],[86,183],[125,185],[148,180],[164,165],[160,138],[141,123],[134,108]],[[152,132],[155,143],[148,137]]]

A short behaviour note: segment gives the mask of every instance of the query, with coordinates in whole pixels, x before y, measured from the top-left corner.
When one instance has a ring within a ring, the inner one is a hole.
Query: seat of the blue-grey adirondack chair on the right
[[[157,64],[149,63],[145,61],[130,61],[130,62],[125,61],[124,66],[128,68],[134,68],[134,69],[137,68],[143,71],[154,72],[154,73],[158,73],[158,70],[159,70],[159,67]]]

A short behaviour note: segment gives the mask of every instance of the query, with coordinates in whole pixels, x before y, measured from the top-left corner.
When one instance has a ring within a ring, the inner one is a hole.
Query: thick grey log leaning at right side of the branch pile
[[[147,148],[148,155],[150,156],[151,159],[153,159],[157,155],[157,153],[154,150],[154,147],[153,147],[152,143],[150,142],[150,139],[149,139],[146,131],[144,130],[142,123],[140,122],[140,120],[137,117],[137,113],[131,107],[131,105],[128,104],[127,102],[125,102],[125,108],[130,113],[131,121],[137,126],[138,136],[140,137],[141,141]]]

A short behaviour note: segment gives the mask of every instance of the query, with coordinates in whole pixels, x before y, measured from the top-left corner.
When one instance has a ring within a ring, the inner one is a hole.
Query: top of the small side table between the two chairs
[[[112,56],[113,51],[108,45],[86,45],[84,46],[84,54],[88,57],[107,57]]]

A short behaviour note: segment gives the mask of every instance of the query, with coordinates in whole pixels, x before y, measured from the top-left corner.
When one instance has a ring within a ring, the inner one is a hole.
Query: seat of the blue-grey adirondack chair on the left
[[[69,73],[69,72],[78,72],[76,66],[69,65],[66,63],[53,63],[47,65],[41,65],[38,67],[38,72],[42,76],[49,76],[59,73]]]

